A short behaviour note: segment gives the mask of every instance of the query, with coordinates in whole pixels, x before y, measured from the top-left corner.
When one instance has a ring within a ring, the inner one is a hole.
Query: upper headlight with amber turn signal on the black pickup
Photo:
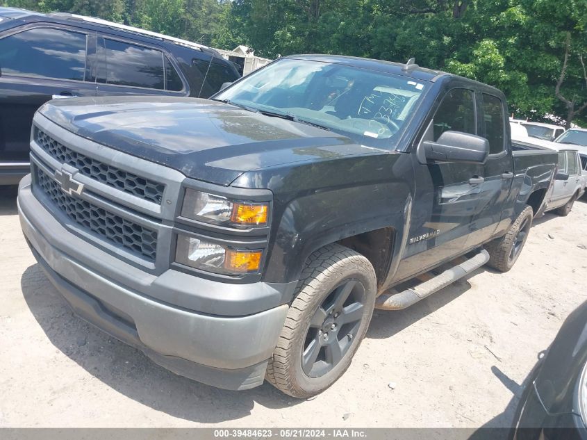
[[[233,202],[226,197],[185,190],[181,216],[215,225],[265,226],[269,207],[264,203]]]

